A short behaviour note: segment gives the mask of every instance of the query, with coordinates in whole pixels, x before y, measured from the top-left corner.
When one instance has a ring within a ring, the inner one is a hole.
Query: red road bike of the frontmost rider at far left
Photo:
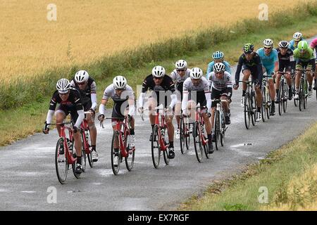
[[[60,138],[56,143],[55,151],[55,167],[58,181],[61,184],[66,183],[66,178],[68,174],[68,169],[70,169],[70,165],[73,169],[74,176],[77,179],[80,178],[80,174],[76,173],[77,157],[75,155],[75,150],[73,149],[73,123],[63,122],[46,125],[60,125],[61,127]],[[66,129],[68,130],[68,137],[66,136]]]

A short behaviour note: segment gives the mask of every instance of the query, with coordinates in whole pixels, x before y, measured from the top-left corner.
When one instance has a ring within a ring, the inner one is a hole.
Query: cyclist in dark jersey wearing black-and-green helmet
[[[262,104],[262,94],[261,94],[261,81],[263,78],[263,70],[260,56],[254,52],[253,44],[244,44],[242,56],[239,58],[237,65],[237,71],[235,72],[235,85],[233,88],[237,90],[239,88],[240,72],[242,70],[243,78],[242,81],[248,81],[251,75],[251,80],[257,82],[258,85],[255,86],[256,91],[256,104],[257,113],[256,120],[261,119],[261,104]],[[242,100],[241,106],[244,107],[244,96],[247,92],[247,84],[242,84]]]

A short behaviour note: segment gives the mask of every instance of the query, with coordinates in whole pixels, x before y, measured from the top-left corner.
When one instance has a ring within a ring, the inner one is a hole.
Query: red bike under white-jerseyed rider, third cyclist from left
[[[125,167],[127,167],[128,171],[131,171],[135,162],[135,146],[130,146],[131,127],[128,116],[124,118],[105,117],[104,120],[114,120],[116,122],[116,131],[113,131],[111,141],[111,168],[113,174],[117,175],[119,173],[123,160],[125,160]],[[103,124],[101,127],[104,127]],[[115,150],[116,146],[118,147],[118,151]],[[118,158],[118,160],[115,158]]]

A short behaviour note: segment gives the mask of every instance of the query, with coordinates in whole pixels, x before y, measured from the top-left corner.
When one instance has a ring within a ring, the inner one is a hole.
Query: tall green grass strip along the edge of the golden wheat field
[[[89,65],[54,68],[33,77],[12,79],[9,83],[0,82],[0,110],[17,108],[30,102],[42,103],[44,98],[51,94],[51,90],[55,89],[58,79],[70,78],[80,68],[86,68],[89,74],[94,75],[97,82],[101,82],[126,70],[143,68],[146,63],[192,55],[209,49],[210,46],[245,37],[246,34],[270,30],[271,27],[282,29],[285,26],[296,25],[297,21],[303,23],[306,18],[316,15],[317,1],[311,1],[293,9],[271,13],[269,20],[260,21],[258,18],[242,20],[231,27],[218,27],[198,33],[190,32],[185,37],[161,41],[132,51],[123,51]]]

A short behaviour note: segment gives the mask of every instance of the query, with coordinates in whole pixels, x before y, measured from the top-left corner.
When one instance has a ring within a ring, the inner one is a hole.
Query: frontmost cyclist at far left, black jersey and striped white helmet
[[[77,165],[76,173],[82,173],[82,139],[80,136],[80,124],[85,118],[84,108],[82,106],[82,99],[80,98],[80,93],[77,89],[73,89],[70,86],[68,79],[59,79],[56,84],[56,91],[54,92],[51,101],[49,103],[49,112],[46,116],[46,121],[44,123],[44,134],[49,134],[49,125],[51,123],[52,117],[55,113],[56,123],[63,123],[66,116],[70,114],[71,119],[75,122],[73,126],[73,135],[75,141],[75,150],[77,155]],[[59,104],[57,110],[56,104]],[[61,136],[61,126],[56,125],[58,136]],[[65,152],[64,152],[65,153]],[[60,154],[63,154],[60,152]]]

